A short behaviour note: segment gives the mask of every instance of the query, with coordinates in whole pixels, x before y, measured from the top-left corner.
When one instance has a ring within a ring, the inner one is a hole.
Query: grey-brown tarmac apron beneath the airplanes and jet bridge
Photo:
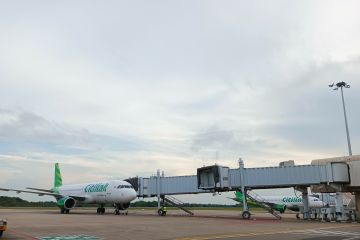
[[[297,220],[283,214],[282,220],[265,212],[255,212],[243,220],[241,211],[195,210],[194,216],[169,210],[161,217],[155,210],[129,209],[129,214],[104,215],[96,209],[75,209],[60,214],[56,209],[0,209],[8,220],[3,239],[360,239],[359,223]]]

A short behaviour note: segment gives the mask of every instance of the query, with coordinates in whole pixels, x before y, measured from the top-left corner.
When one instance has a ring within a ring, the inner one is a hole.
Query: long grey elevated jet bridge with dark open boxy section
[[[158,197],[165,195],[199,194],[209,192],[226,192],[247,190],[295,187],[303,192],[304,208],[307,209],[307,188],[318,187],[322,192],[345,192],[360,189],[359,162],[351,161],[318,161],[311,165],[281,164],[279,167],[244,168],[239,166],[230,169],[213,165],[197,169],[196,175],[165,177],[160,175],[149,178],[132,179],[136,185],[138,197]],[[351,173],[351,175],[350,175]],[[356,182],[352,182],[355,179]],[[324,190],[325,189],[325,190]],[[246,204],[246,203],[245,203]]]

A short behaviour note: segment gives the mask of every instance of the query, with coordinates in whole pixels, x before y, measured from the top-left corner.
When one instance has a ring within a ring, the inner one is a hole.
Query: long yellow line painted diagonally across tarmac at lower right
[[[332,226],[332,227],[311,228],[311,230],[346,228],[346,227],[359,227],[359,225],[358,224],[351,224],[351,225],[347,224],[347,225]],[[307,230],[308,229],[309,228],[307,228]],[[264,235],[273,235],[273,234],[292,233],[295,230],[296,229],[292,229],[292,230],[288,230],[288,231],[277,231],[277,232],[250,232],[250,233],[234,233],[234,234],[224,234],[224,235],[184,237],[184,238],[177,238],[176,240],[209,240],[209,239],[221,239],[221,238],[264,236]],[[303,229],[300,229],[300,230],[303,230]]]

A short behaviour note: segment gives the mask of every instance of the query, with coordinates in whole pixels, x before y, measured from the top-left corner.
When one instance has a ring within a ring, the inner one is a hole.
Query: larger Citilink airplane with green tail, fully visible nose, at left
[[[29,190],[0,188],[0,191],[53,196],[62,214],[70,213],[70,210],[77,203],[99,204],[100,207],[97,208],[97,213],[104,214],[105,204],[111,203],[114,205],[115,214],[119,215],[121,211],[129,208],[130,202],[137,197],[136,191],[131,184],[122,180],[63,185],[58,163],[55,163],[54,186],[51,189],[27,189]]]

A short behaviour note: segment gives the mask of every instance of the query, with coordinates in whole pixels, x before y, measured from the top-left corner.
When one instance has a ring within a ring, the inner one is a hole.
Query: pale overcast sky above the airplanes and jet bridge
[[[266,167],[344,156],[341,93],[328,86],[340,81],[351,85],[359,154],[358,9],[359,1],[1,1],[0,187],[50,188],[55,162],[64,183],[79,183],[157,169],[195,175],[215,163],[236,168],[239,157]]]

